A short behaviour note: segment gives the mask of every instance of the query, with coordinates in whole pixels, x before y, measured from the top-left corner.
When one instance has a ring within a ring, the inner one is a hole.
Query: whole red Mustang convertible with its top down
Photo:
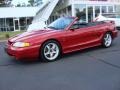
[[[76,17],[61,17],[42,30],[10,38],[5,51],[18,60],[40,58],[55,61],[62,54],[102,45],[110,47],[117,37],[113,21],[81,23]]]

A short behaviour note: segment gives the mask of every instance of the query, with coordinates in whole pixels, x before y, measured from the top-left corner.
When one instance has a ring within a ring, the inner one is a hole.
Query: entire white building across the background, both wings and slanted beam
[[[76,16],[91,22],[102,13],[120,15],[120,0],[35,0],[37,7],[0,8],[0,31],[24,30],[28,25],[44,21],[49,24],[62,16]],[[42,4],[43,3],[43,4]],[[32,20],[33,19],[33,20]]]

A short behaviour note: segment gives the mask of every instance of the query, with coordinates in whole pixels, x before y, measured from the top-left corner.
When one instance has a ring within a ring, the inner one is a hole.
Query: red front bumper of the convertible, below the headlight
[[[33,59],[39,57],[39,47],[31,46],[25,48],[16,48],[12,45],[4,47],[5,52],[12,57],[18,59]]]

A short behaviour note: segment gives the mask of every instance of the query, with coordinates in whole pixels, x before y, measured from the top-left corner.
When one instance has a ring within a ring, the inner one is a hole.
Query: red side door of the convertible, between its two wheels
[[[79,27],[65,32],[65,51],[71,52],[89,47],[94,39],[94,30],[89,26]]]

